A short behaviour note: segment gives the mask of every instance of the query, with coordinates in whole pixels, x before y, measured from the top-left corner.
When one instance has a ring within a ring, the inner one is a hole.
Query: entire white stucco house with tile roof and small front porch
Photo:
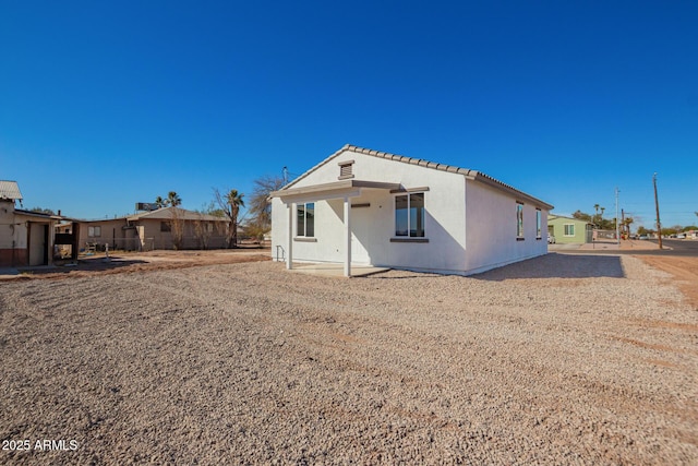
[[[470,275],[547,253],[552,208],[479,171],[345,145],[272,193],[272,256]]]

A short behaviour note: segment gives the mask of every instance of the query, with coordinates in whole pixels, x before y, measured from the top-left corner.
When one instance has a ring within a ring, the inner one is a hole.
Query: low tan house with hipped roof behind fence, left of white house
[[[179,207],[75,223],[81,249],[103,250],[109,244],[110,249],[131,251],[173,249],[176,242],[177,249],[225,248],[228,226],[226,218]]]

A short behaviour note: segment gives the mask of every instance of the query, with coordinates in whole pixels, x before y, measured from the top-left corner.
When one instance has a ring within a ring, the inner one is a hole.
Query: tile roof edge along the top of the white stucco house
[[[341,147],[339,151],[335,152],[334,154],[332,154],[329,157],[325,158],[323,162],[321,162],[320,164],[315,165],[314,167],[312,167],[311,169],[309,169],[308,171],[305,171],[304,174],[302,174],[301,176],[299,176],[298,178],[296,178],[293,181],[291,181],[290,183],[288,183],[287,186],[285,186],[282,188],[287,189],[290,188],[291,186],[296,184],[298,181],[300,181],[301,179],[305,178],[308,175],[310,175],[312,171],[316,170],[317,168],[320,168],[321,166],[325,165],[326,163],[328,163],[329,160],[332,160],[333,158],[335,158],[336,156],[338,156],[339,154],[341,154],[345,151],[351,151],[358,154],[365,154],[365,155],[371,155],[373,157],[378,157],[378,158],[385,158],[387,160],[395,160],[395,162],[401,162],[404,164],[410,164],[410,165],[418,165],[420,167],[424,167],[424,168],[432,168],[435,170],[441,170],[441,171],[448,171],[450,174],[459,174],[459,175],[464,175],[465,177],[472,179],[474,181],[480,181],[484,184],[489,184],[491,187],[494,187],[496,189],[509,192],[510,194],[517,195],[521,199],[527,199],[530,201],[533,201],[538,204],[541,204],[545,207],[547,207],[549,210],[552,210],[553,206],[551,204],[547,204],[546,202],[541,201],[540,199],[533,198],[530,194],[527,194],[522,191],[517,190],[516,188],[506,184],[495,178],[492,178],[489,175],[485,175],[481,171],[478,170],[471,170],[468,168],[460,168],[460,167],[456,167],[454,165],[447,165],[447,164],[438,164],[435,162],[430,162],[430,160],[424,160],[421,158],[412,158],[412,157],[406,157],[404,155],[397,155],[397,154],[390,154],[388,152],[381,152],[381,151],[375,151],[372,148],[364,148],[364,147],[359,147],[357,145],[352,145],[352,144],[345,144],[344,147]]]

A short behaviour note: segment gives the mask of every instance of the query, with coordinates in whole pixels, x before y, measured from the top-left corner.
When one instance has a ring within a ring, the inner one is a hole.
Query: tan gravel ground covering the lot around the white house
[[[666,278],[549,254],[2,283],[0,463],[697,464],[698,312]]]

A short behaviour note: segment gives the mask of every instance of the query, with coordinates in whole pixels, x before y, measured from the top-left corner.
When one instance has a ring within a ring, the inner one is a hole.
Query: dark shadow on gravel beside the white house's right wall
[[[582,255],[549,253],[517,262],[493,271],[471,275],[484,280],[512,278],[624,278],[621,258],[614,255]]]

